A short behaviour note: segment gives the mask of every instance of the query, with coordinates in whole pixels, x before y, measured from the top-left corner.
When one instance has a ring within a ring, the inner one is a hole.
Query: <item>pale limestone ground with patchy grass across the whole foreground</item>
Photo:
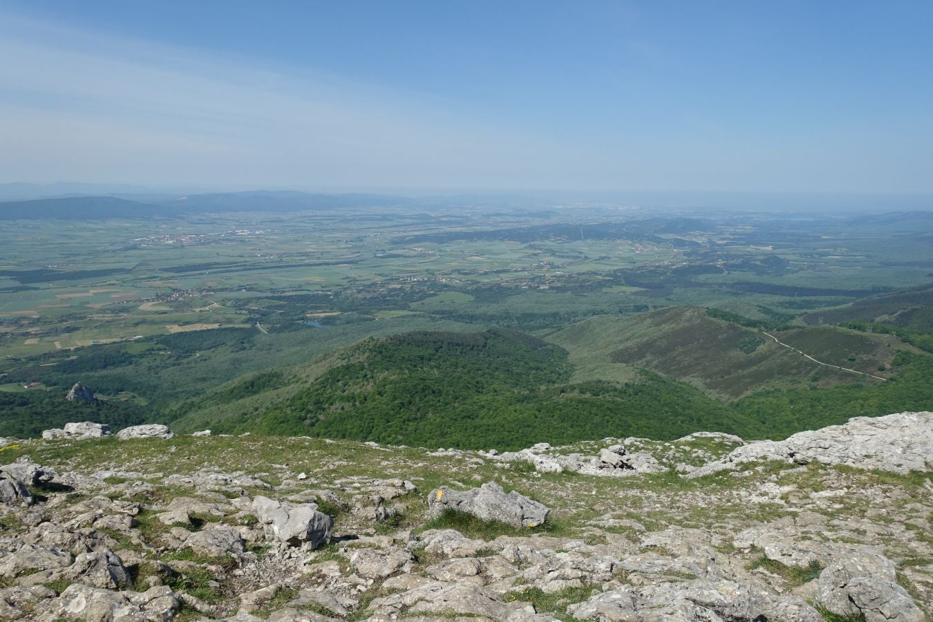
[[[0,617],[897,620],[933,413],[519,452],[93,423],[0,448]]]

